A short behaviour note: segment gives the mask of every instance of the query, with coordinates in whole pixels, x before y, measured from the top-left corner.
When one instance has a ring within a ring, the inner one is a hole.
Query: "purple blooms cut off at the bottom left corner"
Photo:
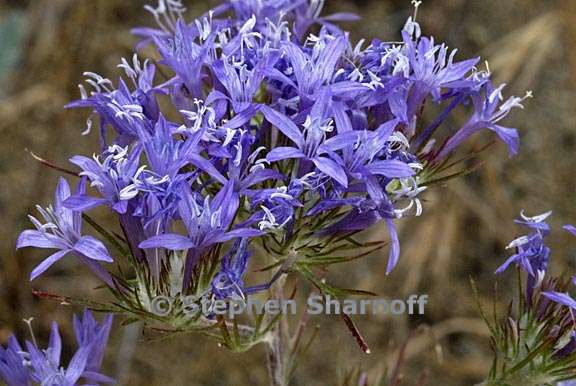
[[[67,368],[61,364],[62,340],[55,322],[45,349],[40,349],[35,340],[22,346],[12,336],[6,347],[0,347],[0,378],[8,386],[74,386],[80,379],[86,385],[114,384],[112,378],[100,373],[111,327],[110,315],[102,323],[90,311],[85,311],[82,318],[74,316],[78,349]]]

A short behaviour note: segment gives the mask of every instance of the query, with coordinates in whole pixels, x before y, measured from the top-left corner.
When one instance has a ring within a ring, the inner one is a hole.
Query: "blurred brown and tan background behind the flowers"
[[[188,17],[213,1],[189,0]],[[30,284],[28,274],[45,256],[15,251],[19,232],[29,226],[34,205],[51,202],[58,173],[34,161],[29,151],[58,165],[73,154],[92,154],[96,132],[80,135],[86,112],[64,111],[78,94],[83,71],[115,80],[121,57],[131,57],[136,39],[129,29],[151,25],[144,1],[0,0],[0,341],[11,332],[27,336],[23,318],[34,317],[39,339],[50,320],[69,324],[80,310],[34,297],[31,290],[91,296],[97,283],[74,259],[64,259]],[[363,21],[346,25],[354,39],[397,40],[413,9],[408,0],[327,0],[326,12],[353,11]],[[361,367],[376,374],[397,360],[405,344],[402,373],[406,385],[422,372],[430,385],[473,385],[491,361],[487,330],[480,319],[469,278],[480,300],[491,307],[496,267],[505,245],[522,231],[512,224],[521,209],[528,214],[554,211],[550,237],[553,270],[574,272],[576,242],[560,226],[576,222],[576,1],[428,0],[419,13],[425,34],[460,49],[460,58],[481,55],[506,94],[533,90],[524,111],[507,126],[522,136],[520,155],[507,157],[503,146],[484,154],[485,166],[464,179],[435,187],[426,195],[423,217],[399,222],[402,258],[385,276],[387,251],[354,269],[337,267],[330,279],[386,298],[430,295],[424,317],[357,317],[372,349],[364,355],[341,319],[314,319],[316,345],[302,361],[294,385],[340,385],[347,371]],[[464,118],[464,117],[462,117]],[[458,117],[453,124],[456,124]],[[481,141],[481,139],[479,139]],[[102,222],[107,219],[100,219]],[[367,237],[386,237],[374,229]],[[83,279],[85,277],[85,280]],[[503,300],[513,292],[513,272],[498,278]],[[501,299],[501,300],[502,300]],[[501,302],[505,304],[506,302]],[[265,384],[264,350],[231,354],[203,337],[164,340],[142,337],[135,328],[114,329],[105,374],[120,385]],[[63,328],[67,342],[71,329]]]

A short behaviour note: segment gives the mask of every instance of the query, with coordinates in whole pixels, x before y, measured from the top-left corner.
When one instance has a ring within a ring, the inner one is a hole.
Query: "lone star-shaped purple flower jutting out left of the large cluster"
[[[85,179],[82,179],[76,194],[83,195],[85,185]],[[37,278],[67,254],[74,253],[102,280],[112,285],[110,276],[98,262],[110,263],[113,259],[102,242],[92,236],[82,236],[82,214],[63,205],[69,197],[70,186],[65,179],[61,178],[56,188],[54,206],[37,207],[45,223],[42,224],[35,217],[30,216],[36,230],[26,230],[18,238],[16,248],[36,247],[58,250],[32,271],[30,280]]]

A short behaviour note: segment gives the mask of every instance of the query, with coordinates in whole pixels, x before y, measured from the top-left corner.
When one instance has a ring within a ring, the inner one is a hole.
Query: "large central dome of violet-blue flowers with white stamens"
[[[71,158],[80,187],[70,194],[61,181],[55,208],[41,210],[46,223],[33,219],[37,230],[22,234],[19,247],[58,250],[32,279],[73,253],[117,285],[101,265],[112,260],[106,247],[80,232],[82,214],[101,206],[118,216],[146,277],[159,281],[171,257],[185,257],[183,291],[215,258],[215,296],[245,292],[251,243],[287,253],[379,222],[392,240],[390,272],[400,251],[393,220],[421,213],[428,167],[482,129],[517,152],[517,131],[500,121],[522,99],[503,102],[478,59],[456,61],[412,19],[399,43],[355,44],[334,23],[356,16],[323,17],[322,4],[229,0],[192,23],[180,1],[147,7],[159,28],[134,33],[158,63],[123,59],[116,86],[87,72],[91,91],[80,86],[68,105],[92,111],[86,133],[97,118],[101,150]],[[439,113],[425,124],[430,105]],[[443,123],[460,105],[473,111],[451,131]]]

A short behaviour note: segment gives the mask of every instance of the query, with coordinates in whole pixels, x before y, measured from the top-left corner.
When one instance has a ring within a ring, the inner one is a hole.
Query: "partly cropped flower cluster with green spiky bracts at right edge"
[[[510,308],[502,324],[488,320],[496,358],[486,385],[572,385],[576,379],[576,300],[567,292],[569,282],[549,277],[550,249],[544,237],[551,212],[516,222],[531,233],[514,240],[516,253],[497,272],[515,264],[526,276],[520,284],[516,314]],[[564,229],[573,233],[574,227]]]

